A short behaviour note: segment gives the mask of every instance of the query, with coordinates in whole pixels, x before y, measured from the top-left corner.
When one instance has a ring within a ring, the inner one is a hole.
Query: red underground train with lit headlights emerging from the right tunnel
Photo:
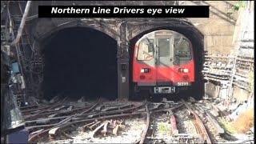
[[[188,38],[172,30],[145,34],[136,42],[133,82],[137,95],[177,94],[189,90],[194,82],[194,58]]]

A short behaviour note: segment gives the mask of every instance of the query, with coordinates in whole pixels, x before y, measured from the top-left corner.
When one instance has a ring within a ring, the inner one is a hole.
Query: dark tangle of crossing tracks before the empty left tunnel
[[[74,126],[82,126],[86,122],[91,123],[91,129],[101,123],[94,131],[94,134],[96,134],[102,126],[106,129],[106,126],[110,123],[106,122],[108,119],[125,118],[143,114],[143,112],[136,113],[134,110],[141,108],[144,104],[137,106],[134,106],[134,104],[105,106],[101,103],[101,101],[98,101],[90,106],[82,106],[80,108],[74,108],[73,110],[62,110],[66,108],[66,104],[60,106],[62,109],[56,110],[56,106],[58,105],[56,104],[54,105],[55,110],[48,108],[40,114],[32,114],[32,117],[31,114],[23,113],[28,115],[25,118],[25,123],[26,129],[30,132],[29,142],[40,142],[42,138],[47,139],[47,137],[49,140],[54,140],[58,134],[62,134],[66,136],[66,138],[71,138],[65,131],[74,128]],[[34,110],[38,110],[38,107]],[[39,108],[39,110],[42,110],[42,108]],[[50,112],[50,110],[52,111]],[[33,113],[33,110],[30,110],[30,112]],[[102,125],[103,123],[100,121],[104,121],[104,125]],[[118,123],[116,120],[113,122]],[[118,126],[121,124],[122,123],[118,124]],[[89,126],[88,123],[86,123],[82,127],[86,127],[86,125]],[[118,128],[115,128],[115,131],[114,133],[117,134]]]

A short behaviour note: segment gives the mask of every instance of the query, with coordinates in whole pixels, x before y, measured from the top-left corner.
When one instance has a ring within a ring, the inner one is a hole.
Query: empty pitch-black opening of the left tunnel
[[[94,29],[58,30],[42,44],[42,92],[71,98],[117,98],[117,42]]]

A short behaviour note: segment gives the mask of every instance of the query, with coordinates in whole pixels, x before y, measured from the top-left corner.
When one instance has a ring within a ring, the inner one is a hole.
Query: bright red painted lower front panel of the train
[[[194,82],[194,58],[186,65],[181,66],[147,66],[142,61],[137,60],[138,46],[134,47],[134,60],[133,60],[133,81],[134,82]],[[149,68],[150,73],[141,73],[141,69]],[[178,72],[179,68],[189,69],[188,73]],[[141,79],[140,76],[144,75],[145,78]],[[189,79],[182,78],[188,75]]]

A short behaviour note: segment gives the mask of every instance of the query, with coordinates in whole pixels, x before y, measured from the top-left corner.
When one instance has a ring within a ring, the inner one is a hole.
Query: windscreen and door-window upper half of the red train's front
[[[159,30],[146,34],[138,43],[138,61],[150,61],[151,58],[174,57],[174,65],[182,65],[192,60],[190,40],[170,30]],[[170,61],[168,61],[170,63]]]

